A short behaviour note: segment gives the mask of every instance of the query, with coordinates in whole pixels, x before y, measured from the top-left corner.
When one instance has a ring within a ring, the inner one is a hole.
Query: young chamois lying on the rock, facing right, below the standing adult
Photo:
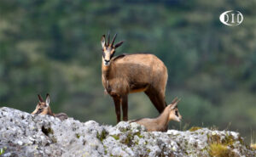
[[[175,98],[172,104],[166,106],[166,109],[157,118],[143,118],[131,122],[136,122],[146,127],[148,132],[166,132],[169,121],[181,121],[182,116],[177,109],[177,103],[179,100]]]

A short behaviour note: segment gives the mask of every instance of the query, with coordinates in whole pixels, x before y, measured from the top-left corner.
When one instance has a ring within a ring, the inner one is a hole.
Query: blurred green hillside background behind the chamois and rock
[[[146,3],[147,2],[147,3]],[[0,105],[32,112],[37,94],[55,113],[115,125],[113,100],[101,80],[102,34],[118,32],[121,53],[154,53],[166,64],[166,102],[176,96],[183,122],[256,130],[255,1],[0,1]],[[239,10],[244,21],[218,17]],[[155,117],[144,93],[129,95],[129,119]]]

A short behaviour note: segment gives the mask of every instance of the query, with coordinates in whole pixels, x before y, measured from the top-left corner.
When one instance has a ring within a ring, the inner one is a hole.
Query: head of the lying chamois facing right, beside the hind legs
[[[166,108],[170,109],[169,111],[169,121],[181,121],[182,116],[179,114],[177,109],[177,103],[180,101],[180,99],[174,98],[172,100],[172,103],[169,104]]]

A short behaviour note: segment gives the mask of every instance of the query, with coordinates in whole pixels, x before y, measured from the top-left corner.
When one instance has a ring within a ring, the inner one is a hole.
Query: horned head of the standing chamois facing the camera
[[[113,54],[115,53],[115,49],[119,48],[123,44],[124,41],[118,42],[117,44],[113,45],[115,37],[117,34],[113,36],[113,41],[110,42],[110,35],[108,32],[108,42],[105,40],[105,35],[102,36],[102,62],[104,65],[108,66],[110,64],[111,59],[113,58]]]

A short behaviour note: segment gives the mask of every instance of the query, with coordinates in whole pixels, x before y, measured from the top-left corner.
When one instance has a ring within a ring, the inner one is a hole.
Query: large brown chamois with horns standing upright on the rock
[[[117,122],[120,121],[120,105],[123,121],[128,120],[128,94],[144,92],[161,113],[166,108],[166,65],[153,54],[121,54],[113,57],[115,49],[123,42],[113,44],[102,36],[102,85],[113,98]]]

